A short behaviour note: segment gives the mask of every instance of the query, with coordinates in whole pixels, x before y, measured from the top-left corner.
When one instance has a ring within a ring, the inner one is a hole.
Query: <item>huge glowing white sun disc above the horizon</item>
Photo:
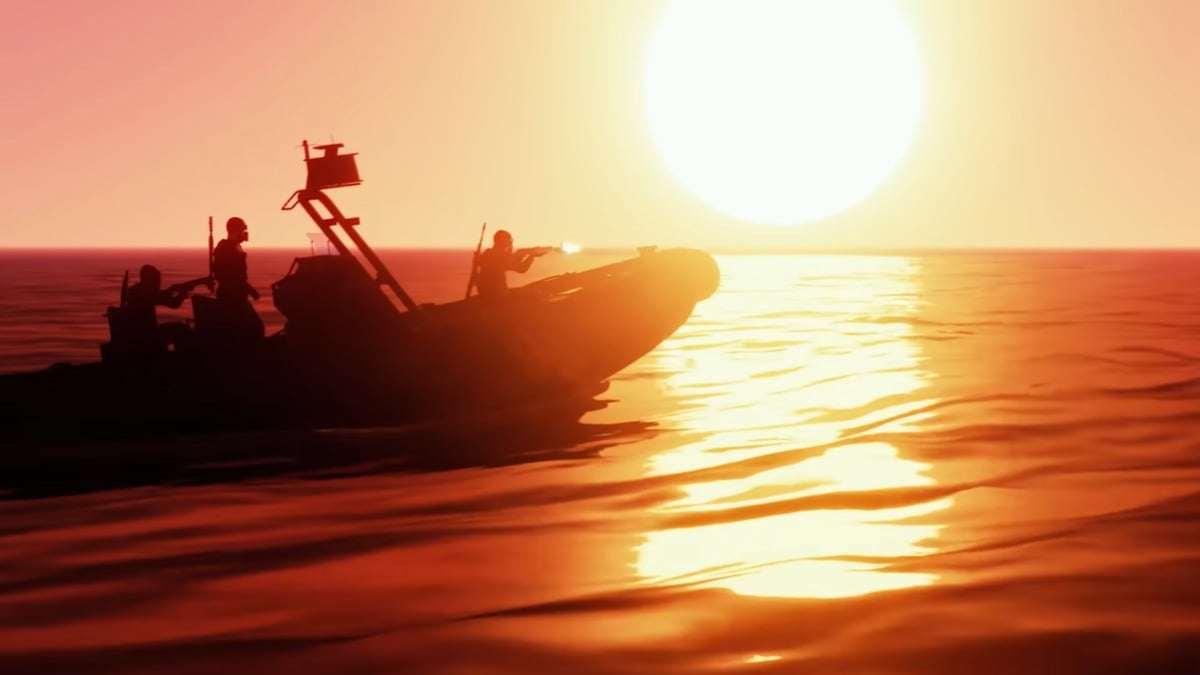
[[[899,166],[920,61],[887,0],[676,0],[646,95],[689,190],[739,220],[798,225],[862,202]]]

